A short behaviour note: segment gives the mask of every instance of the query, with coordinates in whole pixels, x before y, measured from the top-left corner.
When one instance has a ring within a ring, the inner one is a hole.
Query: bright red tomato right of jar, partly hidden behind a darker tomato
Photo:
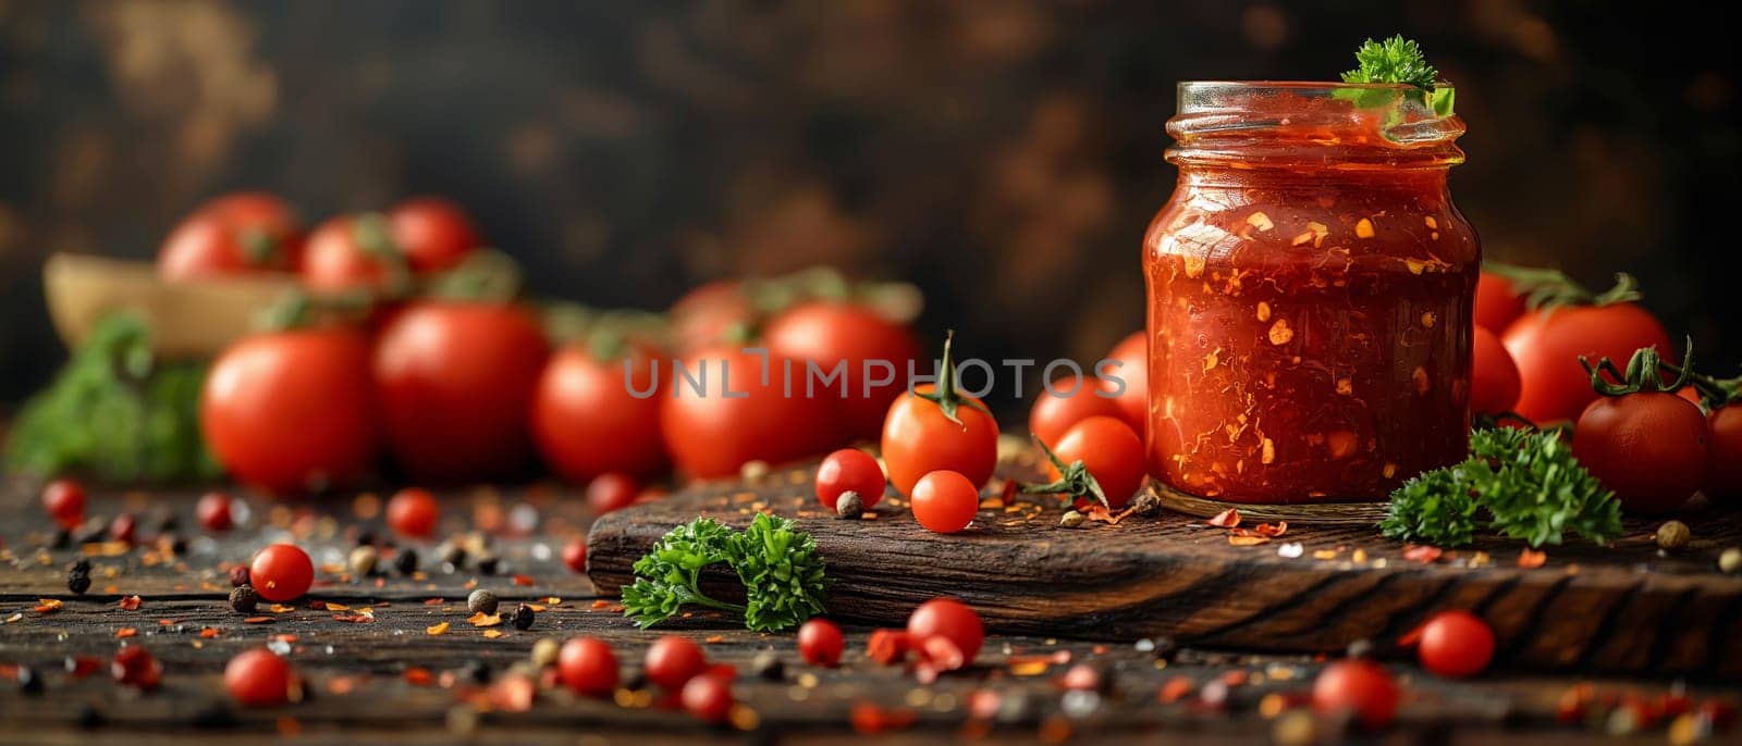
[[[1664,360],[1672,355],[1664,325],[1632,303],[1526,311],[1500,339],[1519,367],[1514,409],[1536,424],[1575,419],[1597,398],[1580,355],[1592,363],[1624,362],[1639,348],[1657,348]]]

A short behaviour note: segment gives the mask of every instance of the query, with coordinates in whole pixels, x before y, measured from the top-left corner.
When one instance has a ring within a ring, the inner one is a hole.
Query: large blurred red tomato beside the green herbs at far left
[[[200,431],[225,471],[268,492],[357,482],[380,445],[368,370],[354,330],[246,337],[206,376]]]

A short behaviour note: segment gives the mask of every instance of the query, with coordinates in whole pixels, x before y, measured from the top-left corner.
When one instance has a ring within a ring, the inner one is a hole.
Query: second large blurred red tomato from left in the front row
[[[408,306],[375,346],[394,457],[425,480],[514,475],[531,456],[526,423],[549,355],[538,322],[519,306]]]

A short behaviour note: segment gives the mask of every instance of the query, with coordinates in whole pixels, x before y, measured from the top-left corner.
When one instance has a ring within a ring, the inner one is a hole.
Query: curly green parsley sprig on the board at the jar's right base
[[[1554,431],[1470,433],[1470,457],[1425,471],[1392,492],[1380,530],[1392,539],[1467,546],[1484,525],[1529,546],[1573,532],[1604,544],[1622,534],[1620,503],[1573,459]]]

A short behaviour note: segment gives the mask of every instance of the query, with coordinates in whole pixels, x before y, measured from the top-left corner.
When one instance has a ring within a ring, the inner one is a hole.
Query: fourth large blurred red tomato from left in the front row
[[[718,478],[737,475],[747,461],[780,464],[836,445],[833,402],[820,393],[805,396],[801,362],[791,365],[794,386],[787,396],[787,363],[793,360],[726,344],[681,362],[681,370],[664,379],[671,393],[658,396],[660,433],[678,468],[695,478]]]

